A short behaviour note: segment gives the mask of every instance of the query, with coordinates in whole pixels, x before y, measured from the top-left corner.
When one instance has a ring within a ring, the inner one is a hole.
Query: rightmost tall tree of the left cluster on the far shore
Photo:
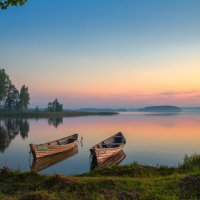
[[[28,92],[28,87],[23,85],[19,94],[18,109],[27,110],[29,101],[30,101],[30,95]]]

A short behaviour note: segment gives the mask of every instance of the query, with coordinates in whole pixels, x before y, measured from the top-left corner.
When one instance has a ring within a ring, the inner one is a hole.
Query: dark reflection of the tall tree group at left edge
[[[0,119],[0,152],[4,152],[18,134],[23,139],[27,138],[29,129],[30,126],[27,119]]]

